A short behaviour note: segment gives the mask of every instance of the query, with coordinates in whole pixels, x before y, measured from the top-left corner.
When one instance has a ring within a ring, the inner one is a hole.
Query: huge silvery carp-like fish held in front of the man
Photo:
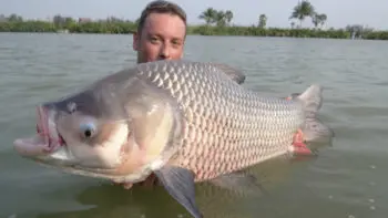
[[[239,83],[224,64],[157,61],[101,79],[37,107],[38,133],[14,141],[20,155],[72,174],[139,183],[155,175],[194,217],[194,183],[254,183],[244,169],[330,138],[316,118],[319,85],[289,100]]]

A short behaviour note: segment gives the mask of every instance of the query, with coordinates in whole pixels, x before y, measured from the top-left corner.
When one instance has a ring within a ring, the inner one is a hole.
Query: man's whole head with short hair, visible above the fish
[[[156,0],[142,11],[133,49],[137,63],[181,59],[186,38],[186,13],[175,3]]]

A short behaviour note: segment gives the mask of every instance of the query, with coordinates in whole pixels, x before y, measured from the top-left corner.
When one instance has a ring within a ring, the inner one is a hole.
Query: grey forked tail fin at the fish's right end
[[[331,128],[317,118],[317,113],[323,104],[323,87],[317,84],[310,85],[305,92],[293,98],[298,100],[305,111],[305,124],[302,126],[304,139],[307,143],[329,143],[334,137]]]

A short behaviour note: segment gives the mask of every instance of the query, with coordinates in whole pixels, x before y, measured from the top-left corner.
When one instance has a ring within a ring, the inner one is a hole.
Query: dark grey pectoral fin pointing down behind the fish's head
[[[187,169],[164,166],[154,172],[169,194],[185,207],[195,218],[202,218],[195,204],[194,174]]]

